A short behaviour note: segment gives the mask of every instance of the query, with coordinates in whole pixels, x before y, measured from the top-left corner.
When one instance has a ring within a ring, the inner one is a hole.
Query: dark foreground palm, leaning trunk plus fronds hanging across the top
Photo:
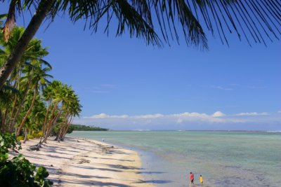
[[[52,20],[58,12],[68,13],[73,22],[84,19],[94,32],[98,29],[100,20],[105,22],[105,32],[108,32],[111,22],[117,22],[117,36],[128,30],[131,37],[143,38],[148,44],[156,46],[162,46],[162,41],[169,43],[170,39],[179,41],[178,32],[182,31],[188,45],[208,48],[203,25],[206,25],[212,34],[218,34],[222,43],[228,43],[228,33],[237,34],[239,39],[244,36],[249,45],[251,45],[250,39],[255,43],[266,44],[266,39],[273,41],[273,38],[279,39],[281,34],[280,0],[25,0],[23,2],[28,9],[35,5],[36,13],[13,53],[0,69],[0,89],[48,13]],[[16,10],[22,10],[21,1],[11,0],[4,27],[6,40],[15,22]],[[162,39],[156,33],[155,23],[159,25]]]

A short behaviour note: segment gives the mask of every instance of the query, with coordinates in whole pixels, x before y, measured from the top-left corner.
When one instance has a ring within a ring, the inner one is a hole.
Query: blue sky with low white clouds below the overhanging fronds
[[[207,51],[183,40],[157,48],[126,34],[115,38],[113,28],[109,36],[103,29],[91,34],[67,16],[46,25],[36,36],[49,46],[52,74],[72,85],[83,106],[74,123],[114,130],[281,130],[280,41],[250,47],[233,34],[228,47],[208,33]]]

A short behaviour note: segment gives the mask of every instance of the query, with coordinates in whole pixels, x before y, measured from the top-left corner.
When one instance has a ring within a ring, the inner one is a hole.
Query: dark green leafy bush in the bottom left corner
[[[0,184],[10,187],[48,187],[53,184],[46,177],[48,172],[45,167],[39,167],[34,177],[36,166],[21,154],[8,160],[8,148],[20,148],[20,143],[15,135],[0,134]]]

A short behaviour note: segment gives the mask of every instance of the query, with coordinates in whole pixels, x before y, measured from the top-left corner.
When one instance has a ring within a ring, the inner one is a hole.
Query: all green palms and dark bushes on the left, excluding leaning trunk
[[[5,15],[0,15],[0,19]],[[1,22],[0,22],[1,24]],[[13,27],[6,41],[0,32],[0,66],[13,53],[23,27]],[[79,98],[70,85],[51,81],[51,64],[44,58],[48,48],[32,39],[11,76],[0,90],[0,183],[4,186],[51,186],[46,168],[36,169],[21,154],[8,159],[8,149],[20,148],[18,141],[38,138],[39,144],[55,135],[62,141],[74,116],[79,116]]]

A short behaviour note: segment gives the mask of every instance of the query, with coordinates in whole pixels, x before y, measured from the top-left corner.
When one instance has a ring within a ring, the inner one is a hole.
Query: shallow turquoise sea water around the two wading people
[[[204,186],[281,186],[280,132],[109,131],[73,132],[132,148],[142,173],[156,186],[189,186],[188,173]]]

